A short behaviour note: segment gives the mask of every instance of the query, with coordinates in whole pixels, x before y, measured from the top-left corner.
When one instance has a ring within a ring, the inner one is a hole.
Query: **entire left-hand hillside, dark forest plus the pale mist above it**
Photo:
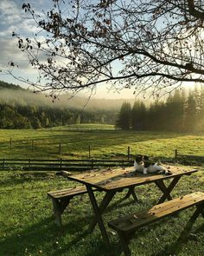
[[[80,123],[115,124],[118,106],[112,101],[61,95],[53,99],[29,89],[0,82],[0,128],[49,128]],[[84,106],[86,105],[86,108]],[[113,105],[113,106],[112,106]]]

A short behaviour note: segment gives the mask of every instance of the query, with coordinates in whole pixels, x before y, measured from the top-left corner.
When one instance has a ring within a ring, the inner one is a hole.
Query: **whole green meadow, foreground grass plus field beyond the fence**
[[[10,137],[12,147],[10,148]],[[30,141],[35,141],[32,152]],[[132,154],[150,154],[158,158],[174,157],[175,148],[182,154],[204,155],[204,134],[175,134],[159,132],[119,131],[97,126],[65,127],[41,130],[0,130],[0,157],[58,158],[58,144],[63,158],[87,157],[91,145],[92,157],[126,157],[127,147]],[[196,190],[204,191],[203,167],[185,176],[175,187],[173,197]],[[167,181],[168,183],[168,181]],[[0,255],[1,256],[109,256],[99,228],[87,233],[92,220],[92,207],[87,195],[71,201],[62,216],[63,228],[54,226],[50,190],[73,187],[76,183],[52,172],[0,172]],[[139,201],[121,201],[126,191],[116,194],[104,214],[105,223],[116,216],[151,207],[161,193],[154,185],[136,189]],[[97,194],[97,199],[103,193]],[[199,217],[182,245],[176,244],[193,209],[169,217],[160,223],[144,227],[131,241],[132,255],[136,256],[200,256],[204,255],[204,222]],[[112,252],[118,236],[109,229]],[[114,253],[113,253],[114,254]],[[117,255],[116,255],[117,256]]]

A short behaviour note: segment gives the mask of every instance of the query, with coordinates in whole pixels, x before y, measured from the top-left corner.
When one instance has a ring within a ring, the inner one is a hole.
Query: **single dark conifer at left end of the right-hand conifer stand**
[[[131,128],[131,104],[124,102],[118,113],[118,121],[116,121],[116,127],[122,129]]]

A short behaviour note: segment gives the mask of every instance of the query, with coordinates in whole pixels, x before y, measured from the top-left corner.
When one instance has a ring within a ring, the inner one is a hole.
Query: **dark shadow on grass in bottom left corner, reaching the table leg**
[[[86,219],[76,220],[59,229],[54,226],[53,218],[43,219],[19,233],[0,239],[0,255],[40,255],[42,252],[41,255],[60,256],[78,255],[78,251],[83,256],[111,255],[99,231],[88,233],[83,227],[85,222],[87,225]]]

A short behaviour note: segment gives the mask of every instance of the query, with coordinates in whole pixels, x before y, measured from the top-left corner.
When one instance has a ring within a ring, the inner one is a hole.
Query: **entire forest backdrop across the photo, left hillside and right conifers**
[[[34,99],[30,94],[29,89],[0,81],[0,128],[49,128],[74,123],[107,123],[121,129],[204,131],[203,88],[190,91],[176,89],[163,102],[124,102],[118,108],[119,111],[116,108],[82,110],[66,104],[48,104],[43,102],[42,96]]]

